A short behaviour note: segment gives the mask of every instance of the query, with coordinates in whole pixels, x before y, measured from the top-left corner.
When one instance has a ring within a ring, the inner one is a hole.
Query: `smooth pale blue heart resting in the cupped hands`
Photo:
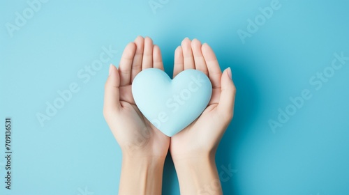
[[[163,70],[148,68],[133,80],[132,93],[145,118],[172,137],[206,109],[212,85],[199,70],[184,70],[172,80]]]

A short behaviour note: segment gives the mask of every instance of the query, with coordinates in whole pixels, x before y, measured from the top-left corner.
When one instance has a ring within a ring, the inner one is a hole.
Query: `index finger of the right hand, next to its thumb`
[[[201,47],[202,55],[206,61],[207,70],[209,70],[209,80],[211,81],[212,88],[220,88],[221,87],[221,77],[222,72],[219,67],[216,55],[214,51],[205,43]]]

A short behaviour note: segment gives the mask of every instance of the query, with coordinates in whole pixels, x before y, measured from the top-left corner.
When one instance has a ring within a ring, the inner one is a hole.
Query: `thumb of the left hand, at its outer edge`
[[[119,111],[120,95],[119,95],[120,77],[117,68],[114,65],[109,67],[109,77],[105,82],[104,89],[104,105],[103,114],[105,118],[110,115],[112,111]]]

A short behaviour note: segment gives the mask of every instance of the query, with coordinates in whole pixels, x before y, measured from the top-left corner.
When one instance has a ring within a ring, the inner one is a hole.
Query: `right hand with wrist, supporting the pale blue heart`
[[[204,72],[212,84],[211,100],[201,116],[171,137],[170,153],[179,177],[181,194],[204,192],[205,186],[219,182],[214,157],[219,141],[232,120],[235,86],[230,68],[221,72],[209,45],[188,38],[174,54],[174,77],[186,69]],[[215,185],[216,186],[216,185]],[[221,194],[221,189],[210,193]]]

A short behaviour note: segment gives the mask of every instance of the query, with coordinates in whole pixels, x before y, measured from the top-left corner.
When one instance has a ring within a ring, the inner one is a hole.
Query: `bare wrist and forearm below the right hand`
[[[214,157],[193,157],[174,162],[181,194],[223,194]]]

